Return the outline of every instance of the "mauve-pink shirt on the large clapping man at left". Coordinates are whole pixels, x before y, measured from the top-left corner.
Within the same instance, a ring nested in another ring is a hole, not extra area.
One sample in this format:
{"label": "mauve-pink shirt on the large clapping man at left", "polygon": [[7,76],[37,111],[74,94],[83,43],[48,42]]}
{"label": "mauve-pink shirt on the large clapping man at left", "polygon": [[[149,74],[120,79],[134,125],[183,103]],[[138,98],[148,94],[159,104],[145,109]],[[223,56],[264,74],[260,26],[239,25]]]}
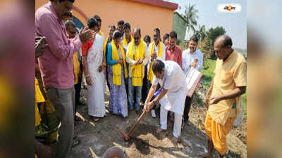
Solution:
{"label": "mauve-pink shirt on the large clapping man at left", "polygon": [[46,37],[49,47],[39,57],[39,67],[46,88],[71,88],[75,84],[73,54],[82,46],[75,37],[68,39],[63,20],[56,15],[51,2],[35,13],[35,33]]}

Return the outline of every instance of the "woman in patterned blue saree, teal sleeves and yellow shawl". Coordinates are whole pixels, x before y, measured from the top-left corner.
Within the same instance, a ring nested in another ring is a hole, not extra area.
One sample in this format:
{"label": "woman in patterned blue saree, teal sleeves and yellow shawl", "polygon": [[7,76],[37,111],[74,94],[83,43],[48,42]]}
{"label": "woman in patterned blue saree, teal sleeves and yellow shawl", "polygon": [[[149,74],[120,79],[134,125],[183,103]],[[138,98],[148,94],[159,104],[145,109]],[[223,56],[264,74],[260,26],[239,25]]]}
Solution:
{"label": "woman in patterned blue saree, teal sleeves and yellow shawl", "polygon": [[112,114],[120,114],[123,117],[127,117],[128,97],[125,89],[125,79],[128,78],[128,69],[125,62],[125,51],[121,44],[121,37],[121,32],[116,30],[113,40],[108,46],[109,111]]}

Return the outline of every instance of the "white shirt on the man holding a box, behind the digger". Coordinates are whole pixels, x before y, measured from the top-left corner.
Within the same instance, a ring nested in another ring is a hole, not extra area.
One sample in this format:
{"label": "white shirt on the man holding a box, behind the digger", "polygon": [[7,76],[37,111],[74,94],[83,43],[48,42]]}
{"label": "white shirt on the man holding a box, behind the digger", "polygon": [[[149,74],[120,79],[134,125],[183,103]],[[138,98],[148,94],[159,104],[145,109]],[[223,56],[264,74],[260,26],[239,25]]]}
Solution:
{"label": "white shirt on the man holding a box, behind the digger", "polygon": [[190,49],[186,49],[182,53],[182,70],[184,74],[187,74],[190,70],[190,64],[194,61],[194,59],[197,58],[197,70],[202,70],[203,66],[203,54],[199,49],[196,49],[196,51],[192,54],[190,53]]}

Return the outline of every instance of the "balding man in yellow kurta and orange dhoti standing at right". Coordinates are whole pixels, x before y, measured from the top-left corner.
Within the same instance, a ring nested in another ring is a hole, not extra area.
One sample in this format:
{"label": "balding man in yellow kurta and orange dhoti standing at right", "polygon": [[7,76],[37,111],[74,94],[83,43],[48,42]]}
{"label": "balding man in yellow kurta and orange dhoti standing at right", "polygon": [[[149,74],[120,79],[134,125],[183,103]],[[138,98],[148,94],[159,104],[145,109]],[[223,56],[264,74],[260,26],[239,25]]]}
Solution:
{"label": "balding man in yellow kurta and orange dhoti standing at right", "polygon": [[226,136],[240,112],[242,95],[247,86],[247,62],[243,55],[233,50],[231,37],[218,37],[214,42],[214,51],[218,59],[206,96],[209,110],[204,123],[208,152],[199,153],[209,158],[213,157],[214,148],[219,152],[219,157],[226,154]]}

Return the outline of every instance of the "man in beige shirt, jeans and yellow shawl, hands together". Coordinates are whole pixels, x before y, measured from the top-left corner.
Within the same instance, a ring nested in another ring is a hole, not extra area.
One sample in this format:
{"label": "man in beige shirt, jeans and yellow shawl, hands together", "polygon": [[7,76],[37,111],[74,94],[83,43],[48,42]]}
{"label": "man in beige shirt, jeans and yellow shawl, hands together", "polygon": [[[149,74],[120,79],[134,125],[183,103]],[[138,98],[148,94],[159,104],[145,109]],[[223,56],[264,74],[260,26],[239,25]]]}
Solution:
{"label": "man in beige shirt, jeans and yellow shawl, hands together", "polygon": [[[140,113],[140,100],[142,93],[142,81],[145,74],[145,65],[149,60],[147,44],[141,39],[141,29],[133,30],[134,41],[130,41],[126,51],[126,62],[128,62],[128,102],[129,109],[133,110],[135,100],[135,110]],[[135,93],[135,96],[133,94]]]}

